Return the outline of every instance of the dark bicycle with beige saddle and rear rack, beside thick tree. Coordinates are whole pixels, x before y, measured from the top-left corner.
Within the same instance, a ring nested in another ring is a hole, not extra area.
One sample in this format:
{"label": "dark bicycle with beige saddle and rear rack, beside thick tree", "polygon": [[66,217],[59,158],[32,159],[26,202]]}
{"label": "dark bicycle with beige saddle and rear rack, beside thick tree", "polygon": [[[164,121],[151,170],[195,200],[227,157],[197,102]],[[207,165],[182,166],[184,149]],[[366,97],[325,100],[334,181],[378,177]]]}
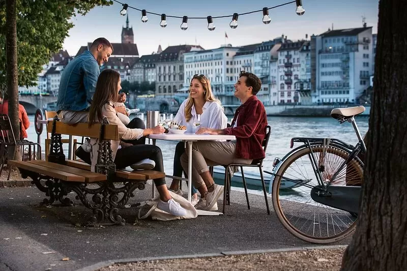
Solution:
{"label": "dark bicycle with beige saddle and rear rack, beside thick tree", "polygon": [[[291,139],[301,142],[273,163],[273,207],[283,226],[298,238],[328,244],[350,235],[356,226],[366,146],[354,116],[363,106],[335,108],[331,116],[352,123],[358,137],[353,146],[335,138]],[[265,171],[266,172],[266,171]]]}

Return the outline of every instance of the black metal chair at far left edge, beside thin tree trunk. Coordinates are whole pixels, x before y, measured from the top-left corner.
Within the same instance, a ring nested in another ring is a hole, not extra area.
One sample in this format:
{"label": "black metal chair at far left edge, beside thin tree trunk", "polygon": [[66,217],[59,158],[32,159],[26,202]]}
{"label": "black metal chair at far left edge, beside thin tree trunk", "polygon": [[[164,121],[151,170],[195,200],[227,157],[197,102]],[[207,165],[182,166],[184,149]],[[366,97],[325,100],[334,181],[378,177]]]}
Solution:
{"label": "black metal chair at far left edge, beside thin tree trunk", "polygon": [[[3,165],[6,162],[8,152],[14,151],[13,154],[13,159],[15,158],[15,148],[20,147],[20,154],[21,154],[21,160],[33,160],[36,159],[36,146],[38,147],[39,154],[40,154],[40,160],[41,160],[41,146],[38,143],[24,140],[24,139],[19,139],[16,140],[14,137],[13,133],[13,128],[11,127],[11,122],[10,118],[6,114],[0,114],[0,176],[2,175],[3,171]],[[24,159],[24,152],[25,152],[25,146],[28,147],[27,151],[27,159]],[[11,168],[12,166],[9,166],[9,175],[7,176],[7,180],[10,179],[10,173],[11,173]]]}

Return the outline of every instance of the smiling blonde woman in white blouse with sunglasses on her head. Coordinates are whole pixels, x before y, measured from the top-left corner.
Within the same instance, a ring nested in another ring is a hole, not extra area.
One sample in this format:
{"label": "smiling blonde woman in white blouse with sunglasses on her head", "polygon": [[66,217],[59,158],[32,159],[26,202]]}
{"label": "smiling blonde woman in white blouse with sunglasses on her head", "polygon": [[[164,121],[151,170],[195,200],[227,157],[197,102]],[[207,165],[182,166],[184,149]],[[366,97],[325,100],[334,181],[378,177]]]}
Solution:
{"label": "smiling blonde woman in white blouse with sunglasses on her head", "polygon": [[[224,129],[227,126],[227,117],[223,113],[223,107],[212,93],[211,82],[203,74],[195,74],[192,77],[189,85],[189,97],[181,104],[174,122],[186,126],[188,132],[194,132],[193,122],[198,115],[200,115],[200,127]],[[182,177],[183,168],[180,157],[184,153],[184,142],[179,142],[175,150],[173,176]],[[187,177],[186,172],[184,175]],[[172,179],[169,189],[182,195],[178,179]],[[195,205],[198,202],[198,196],[194,187],[192,187],[192,195],[192,204]]]}

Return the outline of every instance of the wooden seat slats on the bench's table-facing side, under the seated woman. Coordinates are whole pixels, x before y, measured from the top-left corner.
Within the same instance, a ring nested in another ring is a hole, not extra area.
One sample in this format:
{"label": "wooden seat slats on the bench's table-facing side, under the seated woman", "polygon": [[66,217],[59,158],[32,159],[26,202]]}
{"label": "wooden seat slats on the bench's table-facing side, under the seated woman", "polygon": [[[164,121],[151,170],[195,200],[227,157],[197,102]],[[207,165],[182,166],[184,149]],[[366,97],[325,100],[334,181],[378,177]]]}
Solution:
{"label": "wooden seat slats on the bench's table-facing side, under the seated woman", "polygon": [[[68,160],[67,165],[85,170],[91,170],[91,165],[77,160]],[[155,170],[116,170],[116,176],[126,179],[148,180],[163,178],[165,177],[165,173]]]}

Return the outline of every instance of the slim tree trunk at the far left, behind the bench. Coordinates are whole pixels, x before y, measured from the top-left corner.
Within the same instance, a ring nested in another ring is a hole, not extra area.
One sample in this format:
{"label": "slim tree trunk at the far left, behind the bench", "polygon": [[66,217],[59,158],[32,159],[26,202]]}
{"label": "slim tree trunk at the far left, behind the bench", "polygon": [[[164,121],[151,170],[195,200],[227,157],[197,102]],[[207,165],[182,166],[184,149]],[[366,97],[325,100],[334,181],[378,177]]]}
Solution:
{"label": "slim tree trunk at the far left, behind the bench", "polygon": [[[18,118],[18,70],[17,70],[17,23],[16,1],[6,0],[6,52],[7,52],[7,94],[9,118],[16,140],[20,138]],[[9,152],[10,154],[11,152]]]}

